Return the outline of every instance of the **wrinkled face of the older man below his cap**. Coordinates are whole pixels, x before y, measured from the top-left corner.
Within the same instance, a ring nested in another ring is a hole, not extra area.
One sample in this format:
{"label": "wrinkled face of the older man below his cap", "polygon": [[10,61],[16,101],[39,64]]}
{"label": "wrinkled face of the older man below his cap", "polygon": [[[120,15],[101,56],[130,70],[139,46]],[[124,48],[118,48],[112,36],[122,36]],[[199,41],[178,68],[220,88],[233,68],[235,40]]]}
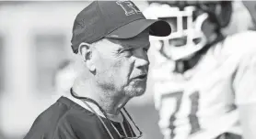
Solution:
{"label": "wrinkled face of the older man below his cap", "polygon": [[111,93],[122,92],[130,97],[142,95],[146,87],[149,46],[148,30],[130,39],[103,39],[99,42],[92,52],[96,56],[98,85]]}

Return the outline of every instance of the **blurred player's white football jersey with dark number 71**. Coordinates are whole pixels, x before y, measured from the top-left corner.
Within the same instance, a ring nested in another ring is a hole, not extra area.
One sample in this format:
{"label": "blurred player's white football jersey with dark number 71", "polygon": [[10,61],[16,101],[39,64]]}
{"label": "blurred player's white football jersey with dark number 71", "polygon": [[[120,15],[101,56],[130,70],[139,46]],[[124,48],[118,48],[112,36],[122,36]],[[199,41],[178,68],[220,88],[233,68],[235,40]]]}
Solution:
{"label": "blurred player's white football jersey with dark number 71", "polygon": [[256,32],[227,37],[182,75],[172,72],[174,63],[157,49],[151,52],[158,124],[165,139],[241,134],[237,106],[256,102]]}

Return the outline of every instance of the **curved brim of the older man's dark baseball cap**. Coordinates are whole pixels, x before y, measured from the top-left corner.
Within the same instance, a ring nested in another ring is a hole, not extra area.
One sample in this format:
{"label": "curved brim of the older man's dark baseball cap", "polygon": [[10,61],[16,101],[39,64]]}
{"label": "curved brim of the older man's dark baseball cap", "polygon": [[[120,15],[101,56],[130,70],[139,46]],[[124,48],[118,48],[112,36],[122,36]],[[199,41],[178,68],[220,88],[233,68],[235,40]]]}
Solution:
{"label": "curved brim of the older man's dark baseball cap", "polygon": [[106,37],[131,38],[135,37],[149,27],[149,35],[156,37],[167,37],[171,32],[169,23],[163,20],[139,19],[111,32]]}

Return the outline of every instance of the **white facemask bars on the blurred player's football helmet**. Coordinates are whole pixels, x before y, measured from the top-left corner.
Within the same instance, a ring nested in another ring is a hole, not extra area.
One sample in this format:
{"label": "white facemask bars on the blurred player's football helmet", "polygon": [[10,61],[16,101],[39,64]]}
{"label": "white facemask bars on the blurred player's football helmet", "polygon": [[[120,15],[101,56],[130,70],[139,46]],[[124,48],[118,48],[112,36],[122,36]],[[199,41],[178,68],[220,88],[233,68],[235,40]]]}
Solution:
{"label": "white facemask bars on the blurred player's football helmet", "polygon": [[168,59],[190,59],[207,44],[202,27],[208,14],[196,13],[195,6],[186,6],[183,10],[169,5],[161,6],[169,12],[167,14],[165,11],[166,14],[159,14],[157,18],[169,22],[172,32],[168,37],[150,37],[151,40],[157,40],[155,45]]}

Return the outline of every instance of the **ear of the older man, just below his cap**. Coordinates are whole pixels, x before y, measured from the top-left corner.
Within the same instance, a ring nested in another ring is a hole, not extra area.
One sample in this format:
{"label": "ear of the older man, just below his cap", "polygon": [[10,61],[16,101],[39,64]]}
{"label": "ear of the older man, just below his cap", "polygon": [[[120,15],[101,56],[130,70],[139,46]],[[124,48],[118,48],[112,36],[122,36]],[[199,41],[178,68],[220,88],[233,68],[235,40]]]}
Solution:
{"label": "ear of the older man, just below his cap", "polygon": [[91,72],[95,72],[96,68],[92,61],[92,51],[91,46],[87,43],[82,42],[79,45],[78,53],[81,55],[82,59],[85,61],[87,65],[87,69],[89,69]]}

